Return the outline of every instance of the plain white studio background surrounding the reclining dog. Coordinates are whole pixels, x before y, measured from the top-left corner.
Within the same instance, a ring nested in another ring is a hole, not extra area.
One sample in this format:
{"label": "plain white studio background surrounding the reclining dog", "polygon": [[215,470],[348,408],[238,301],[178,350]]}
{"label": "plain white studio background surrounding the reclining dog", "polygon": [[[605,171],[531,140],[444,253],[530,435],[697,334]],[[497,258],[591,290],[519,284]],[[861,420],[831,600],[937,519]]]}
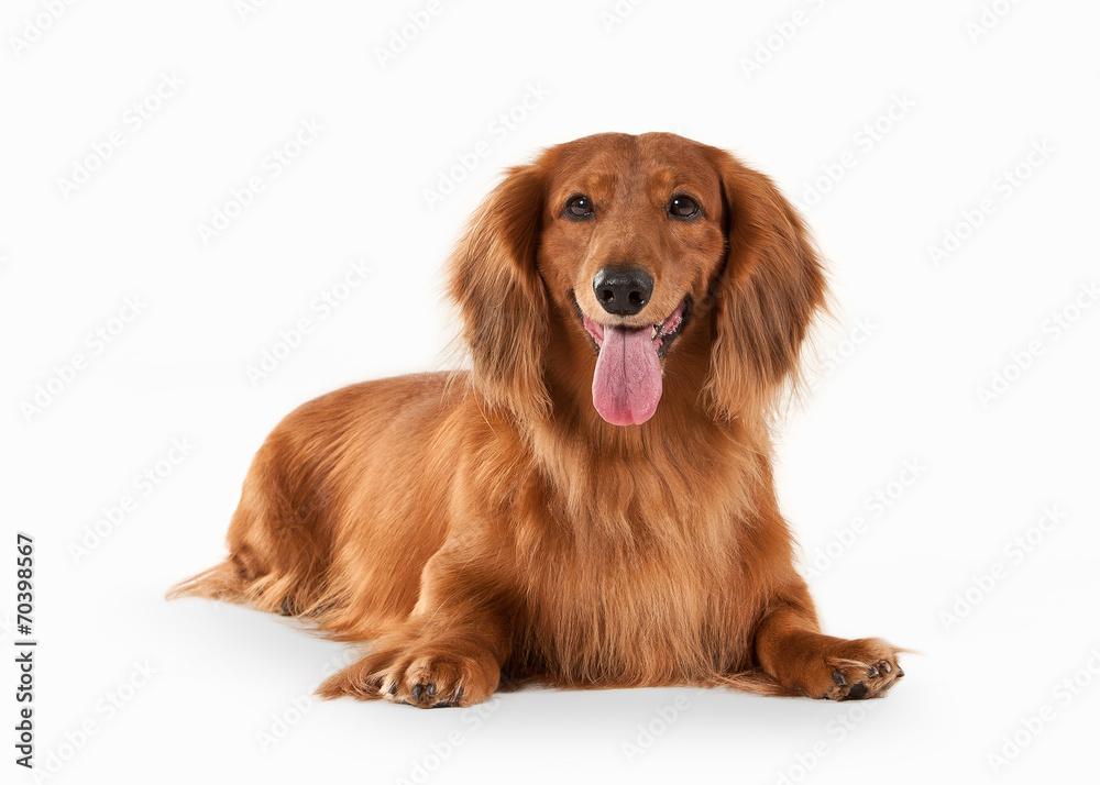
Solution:
{"label": "plain white studio background surrounding the reclining dog", "polygon": [[[1081,287],[1100,278],[1100,8],[243,5],[0,14],[6,781],[31,781],[12,763],[15,531],[36,543],[37,762],[55,782],[1094,777],[1100,307]],[[430,22],[402,42],[409,14]],[[163,75],[183,84],[155,98]],[[310,121],[317,137],[265,166]],[[815,229],[839,317],[780,435],[780,495],[826,629],[923,650],[905,681],[844,705],[693,689],[525,690],[482,714],[317,703],[299,696],[346,648],[166,604],[222,557],[283,414],[451,362],[440,266],[501,169],[609,130],[729,148]],[[97,153],[112,132],[122,144]],[[228,206],[254,176],[263,191]],[[235,220],[205,243],[219,208]],[[961,241],[936,264],[945,233]],[[354,259],[372,272],[322,316]],[[127,298],[140,312],[112,321]],[[278,349],[302,318],[311,332]],[[284,358],[253,384],[265,351]]]}

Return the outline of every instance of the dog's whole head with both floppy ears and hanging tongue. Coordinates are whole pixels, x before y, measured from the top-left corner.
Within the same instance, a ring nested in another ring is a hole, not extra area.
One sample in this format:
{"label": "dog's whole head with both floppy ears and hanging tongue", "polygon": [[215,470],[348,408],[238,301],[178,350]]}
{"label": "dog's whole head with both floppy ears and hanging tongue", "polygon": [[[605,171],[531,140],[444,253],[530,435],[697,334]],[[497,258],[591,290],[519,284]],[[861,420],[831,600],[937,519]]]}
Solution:
{"label": "dog's whole head with both floppy ears and hanging tongue", "polygon": [[474,384],[521,418],[582,378],[616,425],[653,417],[666,382],[715,419],[761,411],[825,299],[771,180],[666,133],[587,136],[510,169],[451,265]]}

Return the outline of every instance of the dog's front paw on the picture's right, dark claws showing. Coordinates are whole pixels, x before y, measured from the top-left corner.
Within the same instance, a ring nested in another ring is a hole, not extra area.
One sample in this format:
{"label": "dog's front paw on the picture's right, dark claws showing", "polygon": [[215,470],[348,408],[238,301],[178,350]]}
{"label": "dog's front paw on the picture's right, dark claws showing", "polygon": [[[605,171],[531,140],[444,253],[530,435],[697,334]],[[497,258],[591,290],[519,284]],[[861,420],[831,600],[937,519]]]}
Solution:
{"label": "dog's front paw on the picture's right, dark claws showing", "polygon": [[792,643],[789,660],[776,676],[813,698],[881,698],[905,675],[898,664],[903,650],[878,638],[804,634]]}

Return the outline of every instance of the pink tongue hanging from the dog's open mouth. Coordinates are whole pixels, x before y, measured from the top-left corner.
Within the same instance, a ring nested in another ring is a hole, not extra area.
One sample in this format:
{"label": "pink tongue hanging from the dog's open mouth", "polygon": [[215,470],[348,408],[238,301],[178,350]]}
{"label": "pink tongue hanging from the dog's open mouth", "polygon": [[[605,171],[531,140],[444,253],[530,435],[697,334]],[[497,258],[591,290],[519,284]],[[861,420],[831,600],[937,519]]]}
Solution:
{"label": "pink tongue hanging from the dog's open mouth", "polygon": [[613,425],[640,425],[661,400],[661,361],[652,328],[604,325],[592,378],[592,403]]}

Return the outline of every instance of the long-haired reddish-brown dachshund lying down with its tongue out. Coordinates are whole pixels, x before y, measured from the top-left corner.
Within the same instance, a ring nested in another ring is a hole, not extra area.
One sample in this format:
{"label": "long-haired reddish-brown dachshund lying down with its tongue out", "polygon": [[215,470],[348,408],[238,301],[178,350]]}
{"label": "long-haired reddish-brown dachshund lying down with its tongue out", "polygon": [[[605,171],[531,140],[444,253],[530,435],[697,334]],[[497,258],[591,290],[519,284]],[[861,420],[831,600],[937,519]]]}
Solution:
{"label": "long-haired reddish-brown dachshund lying down with its tongue out", "polygon": [[508,172],[450,262],[465,372],[300,407],[229,557],[173,596],[370,643],[320,695],[468,706],[502,678],[871,698],[897,649],[818,627],[770,413],[826,298],[770,179],[672,134]]}

